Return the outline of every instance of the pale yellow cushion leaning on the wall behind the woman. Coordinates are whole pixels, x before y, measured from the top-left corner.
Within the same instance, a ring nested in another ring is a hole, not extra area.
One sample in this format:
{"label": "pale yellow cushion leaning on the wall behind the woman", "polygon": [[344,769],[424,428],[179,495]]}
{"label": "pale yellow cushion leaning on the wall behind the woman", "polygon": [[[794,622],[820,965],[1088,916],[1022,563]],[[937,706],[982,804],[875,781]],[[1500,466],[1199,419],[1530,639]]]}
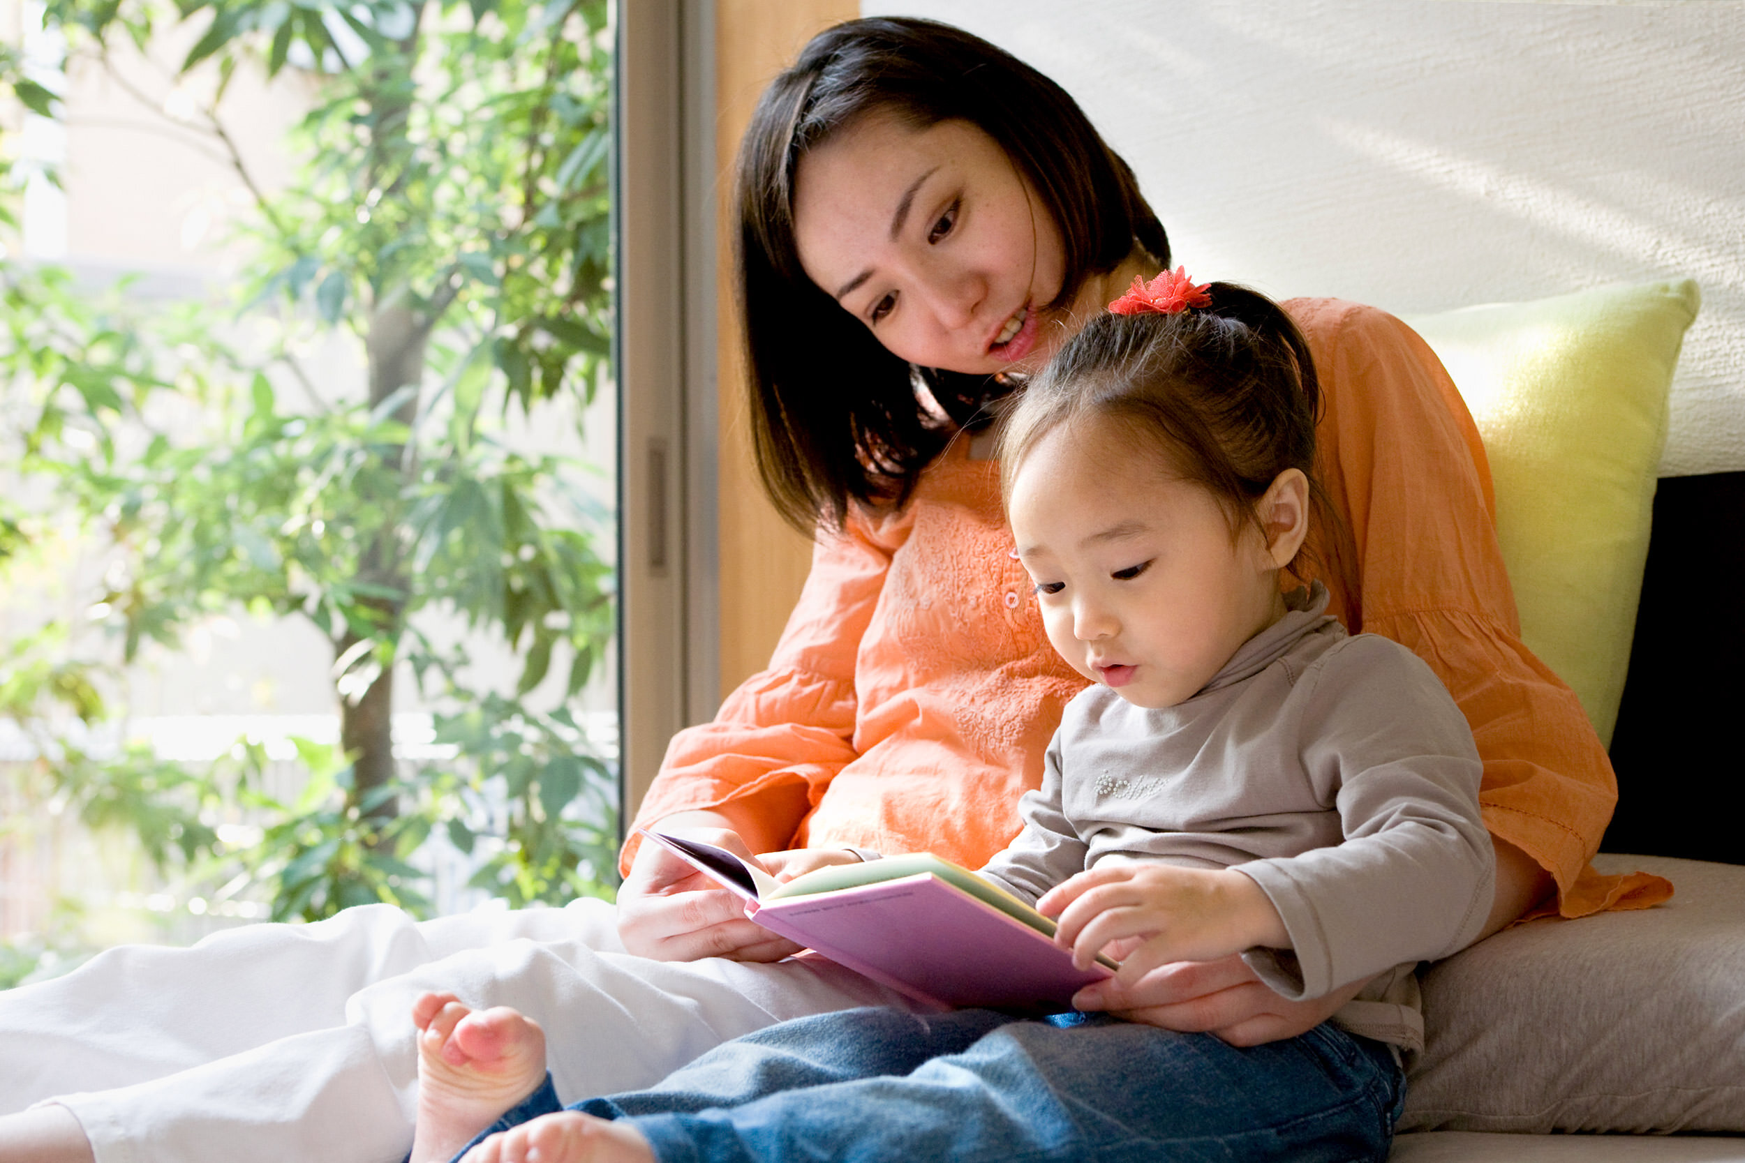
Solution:
{"label": "pale yellow cushion leaning on the wall behind the woman", "polygon": [[1689,279],[1408,317],[1490,457],[1522,638],[1611,743],[1630,664]]}

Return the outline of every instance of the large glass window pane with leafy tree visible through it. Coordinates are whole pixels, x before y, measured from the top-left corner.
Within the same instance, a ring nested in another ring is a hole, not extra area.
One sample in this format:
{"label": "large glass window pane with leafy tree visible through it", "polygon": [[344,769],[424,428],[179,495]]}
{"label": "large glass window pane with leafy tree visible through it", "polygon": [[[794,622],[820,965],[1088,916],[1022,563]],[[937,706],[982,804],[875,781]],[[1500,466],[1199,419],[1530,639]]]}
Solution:
{"label": "large glass window pane with leafy tree visible through it", "polygon": [[180,9],[0,56],[0,987],[616,879],[612,7]]}

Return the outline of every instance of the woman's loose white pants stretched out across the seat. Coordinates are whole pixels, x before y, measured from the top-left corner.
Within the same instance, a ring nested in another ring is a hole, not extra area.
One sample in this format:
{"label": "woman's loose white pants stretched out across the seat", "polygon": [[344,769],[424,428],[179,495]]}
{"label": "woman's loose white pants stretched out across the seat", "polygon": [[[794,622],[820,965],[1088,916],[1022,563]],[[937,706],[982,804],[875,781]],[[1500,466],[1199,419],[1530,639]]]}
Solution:
{"label": "woman's loose white pants stretched out across the seat", "polygon": [[653,1085],[773,1022],[904,1004],[825,961],[632,957],[595,900],[422,924],[368,905],[192,949],[112,949],[0,992],[0,1114],[54,1098],[98,1163],[400,1163],[412,1001],[429,989],[536,1018],[564,1102]]}

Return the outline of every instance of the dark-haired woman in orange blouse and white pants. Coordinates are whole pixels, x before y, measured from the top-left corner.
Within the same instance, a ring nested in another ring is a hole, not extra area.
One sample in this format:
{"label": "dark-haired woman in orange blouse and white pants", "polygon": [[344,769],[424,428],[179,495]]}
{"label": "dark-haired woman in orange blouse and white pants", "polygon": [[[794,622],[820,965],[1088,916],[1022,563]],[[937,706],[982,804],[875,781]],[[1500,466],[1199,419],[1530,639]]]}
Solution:
{"label": "dark-haired woman in orange blouse and white pants", "polygon": [[[747,134],[740,214],[759,464],[784,511],[822,534],[771,670],[675,738],[640,820],[803,849],[771,868],[846,860],[845,846],[981,863],[1017,830],[1017,795],[1080,680],[1017,600],[977,425],[1077,321],[1167,263],[1167,239],[1063,91],[921,21],[853,21],[806,47]],[[1565,915],[1661,893],[1584,868],[1611,771],[1574,696],[1515,635],[1483,452],[1454,387],[1398,321],[1291,310],[1328,392],[1323,474],[1351,534],[1321,546],[1333,609],[1424,656],[1485,758],[1487,931],[1553,891]],[[958,820],[974,823],[944,826]],[[0,994],[5,1109],[63,1097],[0,1118],[0,1163],[398,1160],[408,1015],[428,989],[565,1029],[564,1098],[649,1085],[782,1018],[895,1001],[777,961],[792,947],[653,847],[625,860],[616,935],[595,903],[424,926],[377,907],[188,952],[115,950]],[[1283,1003],[1225,959],[1080,1004],[1248,1044],[1317,1025],[1359,987]]]}

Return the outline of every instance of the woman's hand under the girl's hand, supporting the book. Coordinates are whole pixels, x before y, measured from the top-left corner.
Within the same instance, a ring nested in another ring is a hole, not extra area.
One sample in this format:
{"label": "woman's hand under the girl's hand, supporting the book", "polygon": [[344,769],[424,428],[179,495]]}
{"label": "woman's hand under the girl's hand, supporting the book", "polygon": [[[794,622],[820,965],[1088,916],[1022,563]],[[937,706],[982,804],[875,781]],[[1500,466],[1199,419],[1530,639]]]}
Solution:
{"label": "woman's hand under the girl's hand, supporting the book", "polygon": [[1108,978],[1073,996],[1075,1010],[1105,1010],[1129,1022],[1183,1034],[1213,1034],[1232,1046],[1297,1037],[1326,1022],[1368,980],[1309,1001],[1286,1001],[1255,976],[1241,956],[1178,961],[1136,982]]}

